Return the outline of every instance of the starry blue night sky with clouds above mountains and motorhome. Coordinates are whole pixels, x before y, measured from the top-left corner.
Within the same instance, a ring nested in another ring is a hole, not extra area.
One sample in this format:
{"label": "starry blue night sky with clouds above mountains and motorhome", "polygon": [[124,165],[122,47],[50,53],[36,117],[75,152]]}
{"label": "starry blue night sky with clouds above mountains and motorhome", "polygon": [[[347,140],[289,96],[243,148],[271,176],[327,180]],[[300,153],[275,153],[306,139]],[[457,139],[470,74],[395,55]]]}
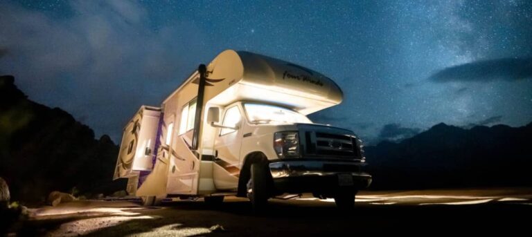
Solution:
{"label": "starry blue night sky with clouds above mountains and motorhome", "polygon": [[115,142],[227,48],[332,78],[370,142],[532,121],[532,1],[0,1],[0,74]]}

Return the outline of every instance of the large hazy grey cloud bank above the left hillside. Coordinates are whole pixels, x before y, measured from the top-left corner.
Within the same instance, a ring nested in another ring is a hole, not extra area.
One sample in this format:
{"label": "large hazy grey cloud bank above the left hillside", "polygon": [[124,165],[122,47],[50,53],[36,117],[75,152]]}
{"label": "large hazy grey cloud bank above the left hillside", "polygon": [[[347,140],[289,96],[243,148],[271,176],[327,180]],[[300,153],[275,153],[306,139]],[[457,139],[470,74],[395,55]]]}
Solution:
{"label": "large hazy grey cloud bank above the left hillside", "polygon": [[[54,17],[0,3],[0,72],[30,99],[63,108],[115,142],[141,104],[157,106],[206,55],[186,21],[154,29],[133,1],[70,1]],[[210,55],[211,56],[211,55]]]}

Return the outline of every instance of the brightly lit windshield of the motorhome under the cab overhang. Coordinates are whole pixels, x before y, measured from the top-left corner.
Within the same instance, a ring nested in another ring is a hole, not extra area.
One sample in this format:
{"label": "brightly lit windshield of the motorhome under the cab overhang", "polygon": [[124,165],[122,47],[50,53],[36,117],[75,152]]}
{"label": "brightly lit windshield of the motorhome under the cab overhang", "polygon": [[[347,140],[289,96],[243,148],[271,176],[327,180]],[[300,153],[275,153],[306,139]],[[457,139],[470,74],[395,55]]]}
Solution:
{"label": "brightly lit windshield of the motorhome under the cab overhang", "polygon": [[310,121],[308,117],[288,108],[269,104],[251,103],[245,103],[244,108],[249,122],[255,124],[312,124],[312,121]]}

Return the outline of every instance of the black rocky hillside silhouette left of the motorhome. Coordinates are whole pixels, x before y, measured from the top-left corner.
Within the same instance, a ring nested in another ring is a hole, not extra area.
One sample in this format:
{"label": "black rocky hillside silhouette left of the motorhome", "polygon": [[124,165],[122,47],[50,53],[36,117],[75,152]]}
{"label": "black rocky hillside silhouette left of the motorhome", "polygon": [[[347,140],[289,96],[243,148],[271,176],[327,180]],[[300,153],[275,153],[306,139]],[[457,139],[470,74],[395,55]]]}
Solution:
{"label": "black rocky hillside silhouette left of the motorhome", "polygon": [[28,99],[12,76],[0,77],[0,176],[12,200],[36,202],[50,191],[109,193],[118,146],[60,108]]}

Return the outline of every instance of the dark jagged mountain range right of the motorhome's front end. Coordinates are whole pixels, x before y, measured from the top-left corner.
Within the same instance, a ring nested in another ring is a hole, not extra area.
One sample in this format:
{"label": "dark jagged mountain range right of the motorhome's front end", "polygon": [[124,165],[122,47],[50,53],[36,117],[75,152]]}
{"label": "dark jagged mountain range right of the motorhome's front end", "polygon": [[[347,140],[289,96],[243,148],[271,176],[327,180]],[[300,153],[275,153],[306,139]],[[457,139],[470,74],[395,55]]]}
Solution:
{"label": "dark jagged mountain range right of the motorhome's front end", "polygon": [[532,123],[471,129],[441,123],[365,151],[373,189],[532,185]]}

